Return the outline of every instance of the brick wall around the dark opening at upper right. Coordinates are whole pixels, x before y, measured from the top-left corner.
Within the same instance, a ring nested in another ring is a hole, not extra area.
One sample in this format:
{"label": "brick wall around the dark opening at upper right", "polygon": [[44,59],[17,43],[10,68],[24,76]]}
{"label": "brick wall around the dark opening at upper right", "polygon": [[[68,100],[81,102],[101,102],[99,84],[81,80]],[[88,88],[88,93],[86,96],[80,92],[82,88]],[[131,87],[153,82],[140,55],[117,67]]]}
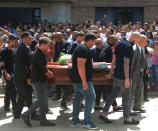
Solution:
{"label": "brick wall around the dark opening at upper right", "polygon": [[74,0],[71,22],[94,20],[95,7],[144,7],[144,22],[158,21],[158,0]]}

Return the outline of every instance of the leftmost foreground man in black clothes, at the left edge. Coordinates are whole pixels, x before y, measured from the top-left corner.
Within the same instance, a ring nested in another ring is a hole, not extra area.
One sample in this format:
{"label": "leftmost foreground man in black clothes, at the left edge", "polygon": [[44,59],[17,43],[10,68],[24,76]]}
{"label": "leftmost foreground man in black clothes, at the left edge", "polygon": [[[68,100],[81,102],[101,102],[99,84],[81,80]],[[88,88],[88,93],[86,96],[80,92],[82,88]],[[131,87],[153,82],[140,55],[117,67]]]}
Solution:
{"label": "leftmost foreground man in black clothes, at the left edge", "polygon": [[9,43],[6,48],[4,48],[0,53],[0,63],[1,68],[3,70],[4,78],[6,80],[5,87],[5,98],[4,98],[4,111],[10,111],[10,100],[12,102],[13,112],[16,107],[16,88],[14,82],[14,62],[15,62],[15,54],[13,52],[13,48],[18,45],[18,37],[15,35],[9,36]]}

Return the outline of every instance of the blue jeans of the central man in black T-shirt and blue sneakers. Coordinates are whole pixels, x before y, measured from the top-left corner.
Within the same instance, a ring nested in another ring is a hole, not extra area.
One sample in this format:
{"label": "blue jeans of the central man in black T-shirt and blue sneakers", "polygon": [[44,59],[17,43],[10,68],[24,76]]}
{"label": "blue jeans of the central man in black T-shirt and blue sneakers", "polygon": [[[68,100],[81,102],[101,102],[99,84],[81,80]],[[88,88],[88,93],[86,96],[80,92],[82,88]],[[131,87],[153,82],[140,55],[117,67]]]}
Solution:
{"label": "blue jeans of the central man in black T-shirt and blue sneakers", "polygon": [[92,82],[87,81],[87,84],[88,84],[88,89],[84,91],[82,83],[73,83],[75,96],[73,101],[72,121],[79,120],[78,117],[80,112],[81,101],[83,97],[85,97],[86,103],[85,103],[85,113],[84,113],[84,121],[83,121],[84,124],[91,121],[91,111],[96,98]]}

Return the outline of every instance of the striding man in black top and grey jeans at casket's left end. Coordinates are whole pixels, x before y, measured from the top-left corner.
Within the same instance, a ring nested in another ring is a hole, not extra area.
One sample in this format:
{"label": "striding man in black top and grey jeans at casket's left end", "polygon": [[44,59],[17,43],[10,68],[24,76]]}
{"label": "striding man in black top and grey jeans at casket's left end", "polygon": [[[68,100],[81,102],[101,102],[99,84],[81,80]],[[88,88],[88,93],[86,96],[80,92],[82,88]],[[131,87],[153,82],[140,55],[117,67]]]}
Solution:
{"label": "striding man in black top and grey jeans at casket's left end", "polygon": [[37,101],[22,115],[24,123],[31,127],[30,115],[40,108],[40,125],[41,126],[54,126],[46,119],[46,107],[48,102],[48,81],[47,78],[54,77],[53,73],[47,69],[47,60],[44,52],[48,52],[50,48],[50,40],[47,37],[39,39],[39,48],[35,51],[32,57],[32,76],[31,83],[36,92]]}

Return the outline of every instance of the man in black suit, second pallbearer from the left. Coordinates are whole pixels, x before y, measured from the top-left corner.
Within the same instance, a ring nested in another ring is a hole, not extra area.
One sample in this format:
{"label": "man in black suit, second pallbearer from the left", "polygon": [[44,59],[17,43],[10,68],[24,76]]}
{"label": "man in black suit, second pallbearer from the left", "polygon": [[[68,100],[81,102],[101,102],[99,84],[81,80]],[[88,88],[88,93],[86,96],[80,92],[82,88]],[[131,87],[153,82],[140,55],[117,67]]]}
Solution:
{"label": "man in black suit, second pallbearer from the left", "polygon": [[[18,102],[14,112],[14,118],[19,119],[24,105],[29,108],[32,105],[31,74],[31,49],[32,36],[25,32],[21,36],[22,43],[18,47],[15,56],[15,83],[18,92]],[[32,115],[36,119],[37,115]],[[37,118],[38,119],[38,118]]]}

